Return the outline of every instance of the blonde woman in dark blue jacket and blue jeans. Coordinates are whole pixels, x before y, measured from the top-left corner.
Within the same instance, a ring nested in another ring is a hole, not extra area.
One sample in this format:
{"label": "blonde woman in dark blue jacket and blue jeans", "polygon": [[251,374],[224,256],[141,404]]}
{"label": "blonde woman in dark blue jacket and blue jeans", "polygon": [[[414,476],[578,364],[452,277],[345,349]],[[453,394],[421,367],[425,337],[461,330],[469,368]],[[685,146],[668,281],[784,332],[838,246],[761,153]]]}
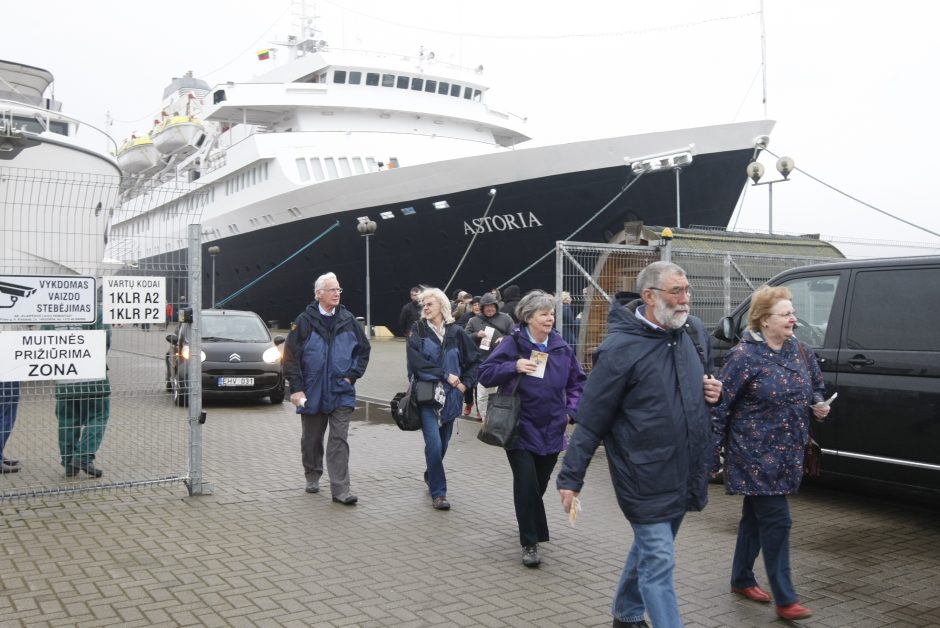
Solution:
{"label": "blonde woman in dark blue jacket and blue jeans", "polygon": [[476,385],[480,354],[470,336],[454,325],[450,301],[441,290],[427,288],[419,299],[421,318],[408,336],[408,378],[440,382],[444,389],[443,406],[421,406],[421,432],[427,462],[424,481],[431,490],[431,505],[448,510],[444,454],[454,420],[463,408],[463,395]]}

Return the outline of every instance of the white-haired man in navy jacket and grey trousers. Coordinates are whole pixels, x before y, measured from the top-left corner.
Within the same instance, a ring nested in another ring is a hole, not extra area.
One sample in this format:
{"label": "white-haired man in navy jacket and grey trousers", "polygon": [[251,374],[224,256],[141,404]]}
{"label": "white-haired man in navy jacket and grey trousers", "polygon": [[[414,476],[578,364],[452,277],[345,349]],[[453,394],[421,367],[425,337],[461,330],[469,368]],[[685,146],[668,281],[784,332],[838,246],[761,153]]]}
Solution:
{"label": "white-haired man in navy jacket and grey trousers", "polygon": [[315,300],[291,325],[284,343],[284,376],[301,419],[300,453],[306,491],[320,492],[323,437],[333,501],[352,506],[349,490],[349,416],[356,406],[356,380],[366,372],[372,347],[356,318],[339,299],[343,289],[333,273],[314,283]]}

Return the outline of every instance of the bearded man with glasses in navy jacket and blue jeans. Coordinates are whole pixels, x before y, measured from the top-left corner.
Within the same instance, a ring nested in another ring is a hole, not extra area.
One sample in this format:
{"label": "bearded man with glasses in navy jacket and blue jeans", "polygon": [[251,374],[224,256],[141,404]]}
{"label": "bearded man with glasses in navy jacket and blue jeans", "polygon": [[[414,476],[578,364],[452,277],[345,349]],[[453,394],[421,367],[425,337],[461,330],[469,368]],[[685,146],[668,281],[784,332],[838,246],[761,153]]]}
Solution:
{"label": "bearded man with glasses in navy jacket and blue jeans", "polygon": [[710,345],[689,315],[685,271],[654,262],[637,277],[637,290],[639,299],[611,306],[557,486],[570,512],[604,441],[617,502],[633,528],[613,625],[647,626],[648,614],[657,628],[675,627],[682,619],[674,540],[685,513],[708,502],[708,406],[721,400],[721,382],[707,375]]}

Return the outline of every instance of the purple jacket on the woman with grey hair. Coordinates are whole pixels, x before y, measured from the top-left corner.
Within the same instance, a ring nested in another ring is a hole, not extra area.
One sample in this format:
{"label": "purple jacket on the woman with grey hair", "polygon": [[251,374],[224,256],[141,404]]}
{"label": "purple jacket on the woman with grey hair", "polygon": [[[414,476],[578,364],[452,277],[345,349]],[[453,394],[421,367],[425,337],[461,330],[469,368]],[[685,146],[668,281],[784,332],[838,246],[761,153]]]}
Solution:
{"label": "purple jacket on the woman with grey hair", "polygon": [[[542,456],[568,446],[568,415],[575,415],[586,379],[574,350],[561,334],[553,329],[547,345],[548,363],[541,379],[516,373],[516,360],[538,350],[522,326],[514,327],[480,365],[481,384],[519,392],[519,442],[515,449]],[[514,383],[517,379],[518,384]]]}

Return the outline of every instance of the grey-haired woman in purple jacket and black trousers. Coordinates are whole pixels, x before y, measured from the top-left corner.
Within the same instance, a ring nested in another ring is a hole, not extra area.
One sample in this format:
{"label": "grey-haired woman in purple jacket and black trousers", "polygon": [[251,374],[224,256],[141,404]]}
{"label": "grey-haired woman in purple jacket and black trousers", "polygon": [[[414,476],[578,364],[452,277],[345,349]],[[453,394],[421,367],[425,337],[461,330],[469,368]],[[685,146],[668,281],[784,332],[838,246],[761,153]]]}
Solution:
{"label": "grey-haired woman in purple jacket and black trousers", "polygon": [[548,541],[542,497],[559,452],[568,446],[565,428],[578,408],[585,375],[574,350],[554,329],[551,295],[541,290],[525,295],[516,317],[519,325],[480,365],[480,383],[519,393],[519,440],[506,450],[506,457],[512,468],[522,564],[537,567],[539,543]]}

